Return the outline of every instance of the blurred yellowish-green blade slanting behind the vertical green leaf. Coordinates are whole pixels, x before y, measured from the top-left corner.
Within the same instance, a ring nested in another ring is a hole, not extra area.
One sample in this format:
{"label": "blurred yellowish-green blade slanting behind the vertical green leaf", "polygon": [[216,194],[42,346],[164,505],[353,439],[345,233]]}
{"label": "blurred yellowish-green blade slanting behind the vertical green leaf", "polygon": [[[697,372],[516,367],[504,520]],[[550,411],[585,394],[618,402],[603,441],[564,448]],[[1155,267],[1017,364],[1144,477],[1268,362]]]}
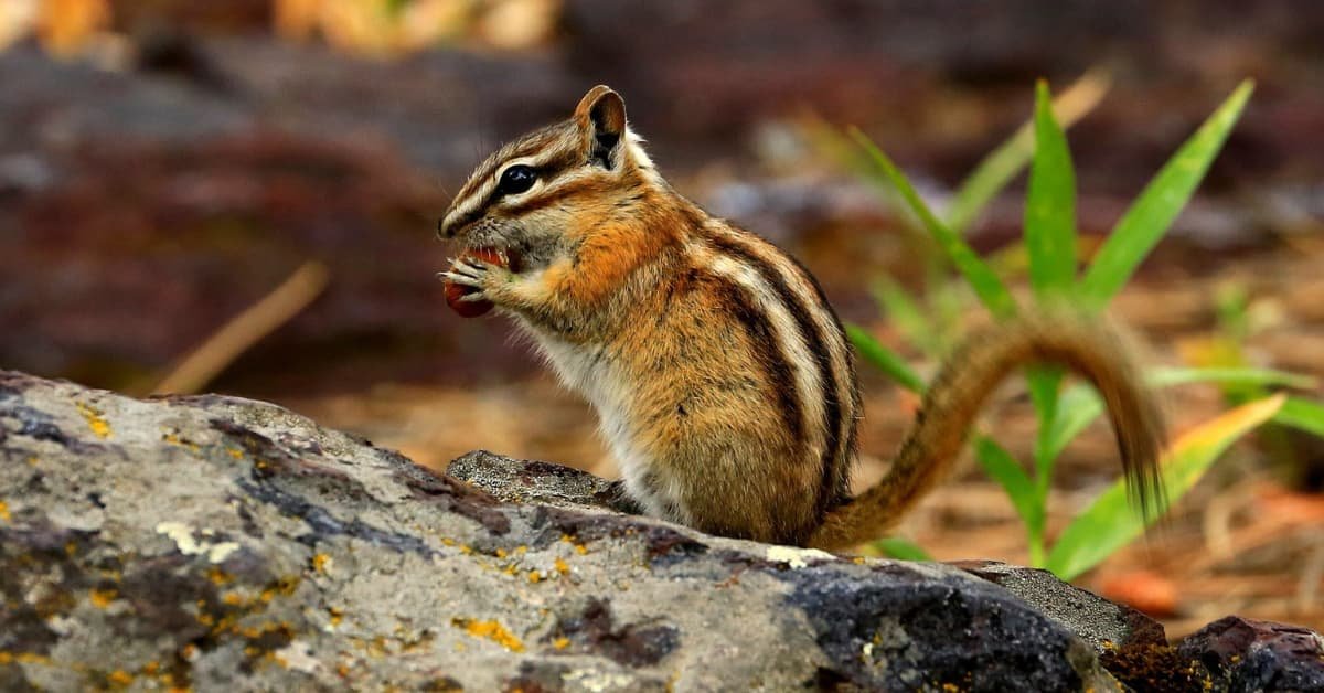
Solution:
{"label": "blurred yellowish-green blade slanting behind the vertical green leaf", "polygon": [[[1053,99],[1053,114],[1063,127],[1076,121],[1103,101],[1112,80],[1103,70],[1090,70]],[[997,197],[1030,162],[1034,154],[1034,127],[1025,123],[1001,146],[989,152],[961,183],[947,211],[947,225],[961,233],[980,216],[989,200]]]}

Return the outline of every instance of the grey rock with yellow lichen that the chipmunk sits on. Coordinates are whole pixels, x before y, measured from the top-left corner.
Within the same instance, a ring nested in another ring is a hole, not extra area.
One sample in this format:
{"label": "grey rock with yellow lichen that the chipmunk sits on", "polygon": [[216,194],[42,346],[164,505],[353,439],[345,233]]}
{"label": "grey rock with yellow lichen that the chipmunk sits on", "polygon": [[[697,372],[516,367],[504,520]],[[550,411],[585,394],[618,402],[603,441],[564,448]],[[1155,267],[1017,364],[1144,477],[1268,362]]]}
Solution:
{"label": "grey rock with yellow lichen that the chipmunk sits on", "polygon": [[544,462],[454,472],[260,401],[0,371],[0,688],[1115,690],[1100,653],[1156,641],[1037,571],[706,537]]}

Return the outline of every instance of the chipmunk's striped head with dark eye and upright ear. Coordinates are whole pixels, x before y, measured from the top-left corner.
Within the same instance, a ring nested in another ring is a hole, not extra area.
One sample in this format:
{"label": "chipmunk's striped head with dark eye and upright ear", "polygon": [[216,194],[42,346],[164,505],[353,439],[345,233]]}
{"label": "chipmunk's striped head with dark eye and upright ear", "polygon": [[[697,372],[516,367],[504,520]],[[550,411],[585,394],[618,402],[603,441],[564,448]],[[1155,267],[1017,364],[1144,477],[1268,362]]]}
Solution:
{"label": "chipmunk's striped head with dark eye and upright ear", "polygon": [[520,270],[545,266],[572,220],[609,219],[618,201],[638,201],[658,180],[639,138],[625,122],[625,101],[606,86],[584,94],[575,114],[498,150],[469,176],[437,231],[466,248],[519,258]]}

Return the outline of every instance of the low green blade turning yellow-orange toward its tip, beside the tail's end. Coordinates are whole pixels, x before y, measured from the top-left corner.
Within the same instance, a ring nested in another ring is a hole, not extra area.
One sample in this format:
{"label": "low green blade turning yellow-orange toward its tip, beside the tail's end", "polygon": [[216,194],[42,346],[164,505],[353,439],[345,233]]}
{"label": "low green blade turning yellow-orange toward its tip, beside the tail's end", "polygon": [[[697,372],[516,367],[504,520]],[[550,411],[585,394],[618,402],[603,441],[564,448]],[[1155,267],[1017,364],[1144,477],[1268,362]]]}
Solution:
{"label": "low green blade turning yellow-orange toward its tip, beside the tail's end", "polygon": [[1286,399],[1274,395],[1245,404],[1174,441],[1164,454],[1160,469],[1165,494],[1156,500],[1156,513],[1149,519],[1128,502],[1127,486],[1119,478],[1067,525],[1053,545],[1046,567],[1070,580],[1140,537],[1170,502],[1196,485],[1229,445],[1272,419]]}

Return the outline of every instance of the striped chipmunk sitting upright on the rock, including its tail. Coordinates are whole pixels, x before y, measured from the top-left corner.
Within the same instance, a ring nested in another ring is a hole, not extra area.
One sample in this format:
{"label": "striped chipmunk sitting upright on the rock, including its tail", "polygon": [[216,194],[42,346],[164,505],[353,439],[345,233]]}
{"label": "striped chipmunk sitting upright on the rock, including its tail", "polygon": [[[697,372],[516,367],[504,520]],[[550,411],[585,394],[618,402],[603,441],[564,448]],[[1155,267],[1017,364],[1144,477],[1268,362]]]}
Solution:
{"label": "striped chipmunk sitting upright on the rock, including its tail", "polygon": [[851,498],[859,386],[822,289],[677,193],[606,86],[483,162],[438,232],[467,249],[445,280],[512,317],[592,403],[649,515],[828,550],[879,538],[952,469],[996,386],[1031,363],[1091,382],[1132,489],[1143,504],[1158,490],[1162,419],[1113,333],[1025,315],[947,359],[891,470]]}

